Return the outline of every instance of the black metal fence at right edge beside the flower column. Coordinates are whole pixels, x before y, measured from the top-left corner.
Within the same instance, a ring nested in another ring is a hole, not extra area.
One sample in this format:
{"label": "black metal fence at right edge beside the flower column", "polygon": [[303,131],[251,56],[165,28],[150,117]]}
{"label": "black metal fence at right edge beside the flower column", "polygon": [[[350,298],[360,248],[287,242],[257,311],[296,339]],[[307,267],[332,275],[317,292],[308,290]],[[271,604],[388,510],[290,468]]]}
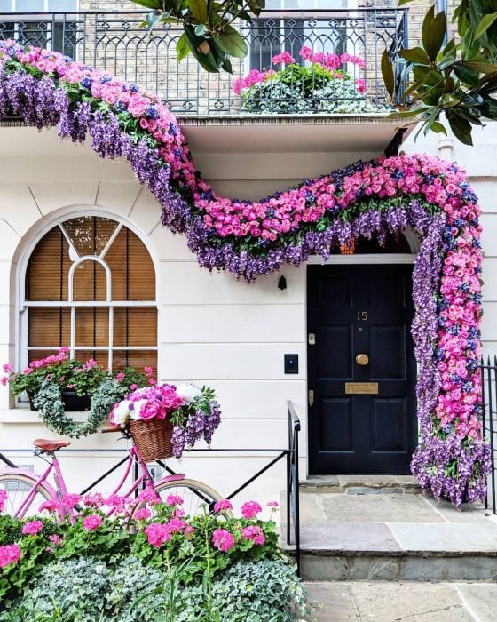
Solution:
{"label": "black metal fence at right edge beside the flower column", "polygon": [[490,443],[492,472],[488,481],[485,507],[497,514],[497,356],[481,360],[483,387],[483,426]]}

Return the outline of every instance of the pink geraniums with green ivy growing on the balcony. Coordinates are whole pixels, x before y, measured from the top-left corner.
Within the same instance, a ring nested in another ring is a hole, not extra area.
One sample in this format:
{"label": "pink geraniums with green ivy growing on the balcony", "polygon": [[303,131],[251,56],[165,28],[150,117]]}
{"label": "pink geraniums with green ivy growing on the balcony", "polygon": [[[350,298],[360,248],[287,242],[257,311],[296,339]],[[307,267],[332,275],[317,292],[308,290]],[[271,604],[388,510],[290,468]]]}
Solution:
{"label": "pink geraniums with green ivy growing on the balcony", "polygon": [[272,57],[280,67],[258,71],[235,80],[233,91],[241,95],[241,110],[249,113],[354,113],[377,112],[367,102],[366,81],[353,76],[347,68],[365,67],[364,60],[344,52],[312,52],[305,46],[299,52],[309,64],[302,66],[289,52]]}

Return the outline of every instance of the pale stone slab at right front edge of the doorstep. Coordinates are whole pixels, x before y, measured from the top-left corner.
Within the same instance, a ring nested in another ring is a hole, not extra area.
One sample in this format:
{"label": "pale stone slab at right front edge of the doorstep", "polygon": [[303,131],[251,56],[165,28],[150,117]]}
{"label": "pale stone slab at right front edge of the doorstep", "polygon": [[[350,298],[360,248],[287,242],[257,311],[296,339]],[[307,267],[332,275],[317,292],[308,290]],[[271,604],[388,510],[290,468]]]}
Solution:
{"label": "pale stone slab at right front edge of the doorstep", "polygon": [[[485,553],[497,555],[497,525],[443,522],[416,524],[391,522],[390,530],[404,551]],[[496,617],[497,618],[497,617]]]}

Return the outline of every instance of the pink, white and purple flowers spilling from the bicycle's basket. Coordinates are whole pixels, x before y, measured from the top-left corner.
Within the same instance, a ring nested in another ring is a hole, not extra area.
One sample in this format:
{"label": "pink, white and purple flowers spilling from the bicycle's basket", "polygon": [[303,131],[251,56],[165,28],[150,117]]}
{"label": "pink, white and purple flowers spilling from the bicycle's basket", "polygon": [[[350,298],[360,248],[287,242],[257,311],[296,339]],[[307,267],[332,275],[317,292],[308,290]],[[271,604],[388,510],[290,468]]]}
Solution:
{"label": "pink, white and purple flowers spilling from the bicycle's basket", "polygon": [[170,418],[174,424],[173,454],[179,458],[185,446],[192,447],[203,438],[210,444],[221,421],[221,411],[213,389],[193,385],[141,387],[116,403],[109,420],[114,426],[130,421]]}

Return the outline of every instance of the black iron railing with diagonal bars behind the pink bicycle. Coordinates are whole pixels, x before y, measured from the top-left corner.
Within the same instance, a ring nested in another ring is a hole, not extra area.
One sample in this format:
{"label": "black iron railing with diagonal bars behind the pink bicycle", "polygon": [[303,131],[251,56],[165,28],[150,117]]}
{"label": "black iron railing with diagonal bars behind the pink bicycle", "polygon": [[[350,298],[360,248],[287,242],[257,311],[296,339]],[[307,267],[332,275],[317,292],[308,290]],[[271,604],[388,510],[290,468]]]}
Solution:
{"label": "black iron railing with diagonal bars behind the pink bicycle", "polygon": [[[299,475],[298,475],[298,434],[300,432],[300,419],[296,414],[295,407],[293,403],[288,402],[288,447],[284,448],[268,448],[268,449],[259,449],[259,448],[211,448],[209,450],[202,449],[192,449],[189,451],[201,451],[204,455],[209,456],[212,453],[230,453],[232,454],[268,454],[270,458],[269,462],[262,466],[255,474],[251,475],[245,482],[242,482],[233,492],[225,495],[225,498],[233,499],[237,495],[241,493],[242,490],[245,490],[252,482],[255,482],[262,474],[266,473],[272,466],[278,464],[280,460],[286,459],[287,461],[287,474],[286,474],[286,537],[287,537],[287,545],[295,546],[295,558],[296,558],[296,566],[297,573],[300,576],[300,512],[299,512],[299,494],[300,494],[300,485],[299,485]],[[0,448],[0,469],[5,468],[5,466],[9,468],[16,468],[17,465],[12,461],[12,459],[7,458],[5,454],[12,455],[14,453],[29,453],[33,451],[31,449],[1,449]],[[62,453],[89,453],[89,454],[98,454],[98,453],[122,453],[127,452],[127,449],[63,449],[59,450]],[[273,455],[276,454],[276,455]],[[127,457],[119,460],[119,462],[115,463],[111,466],[105,473],[101,474],[94,482],[91,482],[84,490],[81,491],[81,494],[85,494],[89,490],[95,490],[95,487],[99,485],[100,482],[105,480],[109,475],[113,474],[124,462],[126,462]],[[170,466],[166,463],[162,462],[162,460],[158,461],[159,465],[167,471],[169,474],[176,474]],[[135,477],[138,478],[138,463],[135,465],[137,469],[135,472]],[[210,483],[210,482],[209,482]],[[213,486],[216,488],[216,482],[212,482]],[[138,492],[138,490],[137,490]],[[283,520],[283,519],[282,519]]]}

